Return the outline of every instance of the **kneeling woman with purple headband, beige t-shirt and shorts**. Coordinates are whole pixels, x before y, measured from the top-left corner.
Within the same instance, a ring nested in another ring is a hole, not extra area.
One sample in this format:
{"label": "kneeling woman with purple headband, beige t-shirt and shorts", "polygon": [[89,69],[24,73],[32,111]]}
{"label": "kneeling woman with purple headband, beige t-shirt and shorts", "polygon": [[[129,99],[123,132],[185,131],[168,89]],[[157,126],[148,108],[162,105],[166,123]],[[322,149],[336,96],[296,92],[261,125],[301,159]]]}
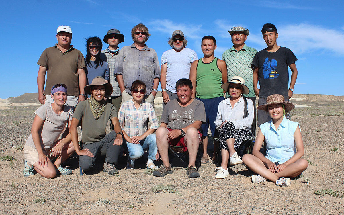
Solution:
{"label": "kneeling woman with purple headband, beige t-shirt and shorts", "polygon": [[[62,175],[72,174],[72,170],[61,166],[75,151],[71,135],[63,135],[58,139],[68,125],[71,126],[73,110],[64,105],[67,100],[67,87],[55,84],[51,88],[51,98],[54,103],[46,103],[35,111],[31,134],[25,142],[23,153],[25,157],[24,176],[33,175],[33,170],[45,178],[54,178],[56,172]],[[51,159],[56,159],[51,161]]]}

